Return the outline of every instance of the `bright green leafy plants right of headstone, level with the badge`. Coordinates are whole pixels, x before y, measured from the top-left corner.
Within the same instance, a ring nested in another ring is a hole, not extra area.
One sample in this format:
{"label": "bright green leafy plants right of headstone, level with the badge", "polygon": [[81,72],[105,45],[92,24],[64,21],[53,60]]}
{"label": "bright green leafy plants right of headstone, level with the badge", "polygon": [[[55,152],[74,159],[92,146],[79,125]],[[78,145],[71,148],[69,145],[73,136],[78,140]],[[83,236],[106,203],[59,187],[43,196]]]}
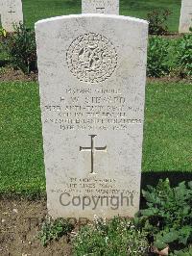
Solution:
{"label": "bright green leafy plants right of headstone, level with the badge", "polygon": [[184,35],[180,39],[149,38],[147,75],[192,76],[192,35]]}

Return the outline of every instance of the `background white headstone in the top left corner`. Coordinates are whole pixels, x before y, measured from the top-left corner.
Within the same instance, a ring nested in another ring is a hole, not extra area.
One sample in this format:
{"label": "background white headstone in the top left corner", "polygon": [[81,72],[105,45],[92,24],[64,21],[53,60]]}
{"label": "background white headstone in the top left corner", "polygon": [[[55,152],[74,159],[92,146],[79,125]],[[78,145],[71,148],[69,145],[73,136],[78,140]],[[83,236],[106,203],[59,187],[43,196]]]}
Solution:
{"label": "background white headstone in the top left corner", "polygon": [[13,24],[23,23],[21,0],[1,0],[1,24],[8,31],[13,32]]}

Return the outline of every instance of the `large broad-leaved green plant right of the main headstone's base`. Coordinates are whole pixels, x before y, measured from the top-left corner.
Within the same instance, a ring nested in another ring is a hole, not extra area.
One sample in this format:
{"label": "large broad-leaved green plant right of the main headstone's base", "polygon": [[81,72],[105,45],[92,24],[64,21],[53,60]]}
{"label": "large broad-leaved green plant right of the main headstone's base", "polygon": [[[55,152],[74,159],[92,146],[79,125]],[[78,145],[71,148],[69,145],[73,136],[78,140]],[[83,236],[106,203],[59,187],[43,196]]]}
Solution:
{"label": "large broad-leaved green plant right of the main headstone's base", "polygon": [[140,223],[158,249],[169,245],[170,250],[181,249],[192,242],[192,182],[181,182],[171,188],[169,180],[143,191],[147,208],[140,211]]}

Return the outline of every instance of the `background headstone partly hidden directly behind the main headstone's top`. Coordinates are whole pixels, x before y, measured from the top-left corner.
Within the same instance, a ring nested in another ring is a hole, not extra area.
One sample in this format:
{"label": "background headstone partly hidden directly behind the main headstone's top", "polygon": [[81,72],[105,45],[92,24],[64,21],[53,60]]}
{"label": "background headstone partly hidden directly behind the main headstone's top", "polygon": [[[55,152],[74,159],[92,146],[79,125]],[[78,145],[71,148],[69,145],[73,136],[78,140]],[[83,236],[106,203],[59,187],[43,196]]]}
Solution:
{"label": "background headstone partly hidden directly behind the main headstone's top", "polygon": [[82,0],[82,13],[119,14],[119,0]]}

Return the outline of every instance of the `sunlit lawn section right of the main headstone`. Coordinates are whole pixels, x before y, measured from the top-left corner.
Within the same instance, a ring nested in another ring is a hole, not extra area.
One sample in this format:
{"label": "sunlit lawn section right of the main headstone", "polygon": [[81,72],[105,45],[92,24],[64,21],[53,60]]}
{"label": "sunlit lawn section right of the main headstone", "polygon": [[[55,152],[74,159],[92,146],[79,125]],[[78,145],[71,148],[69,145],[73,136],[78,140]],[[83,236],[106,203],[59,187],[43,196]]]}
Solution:
{"label": "sunlit lawn section right of the main headstone", "polygon": [[143,171],[192,171],[192,85],[149,84]]}

